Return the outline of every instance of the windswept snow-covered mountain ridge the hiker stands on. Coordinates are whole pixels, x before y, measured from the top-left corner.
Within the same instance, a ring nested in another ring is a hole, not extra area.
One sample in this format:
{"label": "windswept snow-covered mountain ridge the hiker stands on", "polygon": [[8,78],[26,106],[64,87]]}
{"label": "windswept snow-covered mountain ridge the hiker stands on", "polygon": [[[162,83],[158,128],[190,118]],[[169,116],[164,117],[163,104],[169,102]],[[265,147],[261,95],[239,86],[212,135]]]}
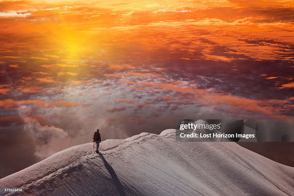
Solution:
{"label": "windswept snow-covered mountain ridge the hiker stands on", "polygon": [[293,167],[233,142],[176,142],[169,129],[103,141],[100,155],[92,149],[63,150],[0,187],[31,195],[294,195]]}

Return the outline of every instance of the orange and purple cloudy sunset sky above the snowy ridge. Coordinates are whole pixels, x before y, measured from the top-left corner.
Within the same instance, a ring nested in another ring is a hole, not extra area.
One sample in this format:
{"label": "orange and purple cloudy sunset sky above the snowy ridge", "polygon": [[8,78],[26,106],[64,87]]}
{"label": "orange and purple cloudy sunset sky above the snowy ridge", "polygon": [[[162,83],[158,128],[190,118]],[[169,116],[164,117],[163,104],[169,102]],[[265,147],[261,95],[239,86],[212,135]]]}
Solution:
{"label": "orange and purple cloudy sunset sky above the snowy ridge", "polygon": [[0,166],[97,128],[105,140],[175,119],[293,118],[293,24],[290,0],[0,1],[0,155],[18,154]]}

